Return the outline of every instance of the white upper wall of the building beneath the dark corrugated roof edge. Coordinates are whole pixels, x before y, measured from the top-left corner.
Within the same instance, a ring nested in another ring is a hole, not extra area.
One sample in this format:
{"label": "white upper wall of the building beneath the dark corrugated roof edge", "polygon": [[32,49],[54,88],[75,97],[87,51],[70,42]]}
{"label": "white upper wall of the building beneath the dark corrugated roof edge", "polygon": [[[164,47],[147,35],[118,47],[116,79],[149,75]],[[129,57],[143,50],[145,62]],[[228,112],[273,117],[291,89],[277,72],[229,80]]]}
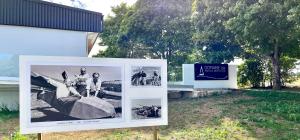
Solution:
{"label": "white upper wall of the building beneath the dark corrugated roof edge", "polygon": [[0,52],[87,56],[86,32],[0,25]]}

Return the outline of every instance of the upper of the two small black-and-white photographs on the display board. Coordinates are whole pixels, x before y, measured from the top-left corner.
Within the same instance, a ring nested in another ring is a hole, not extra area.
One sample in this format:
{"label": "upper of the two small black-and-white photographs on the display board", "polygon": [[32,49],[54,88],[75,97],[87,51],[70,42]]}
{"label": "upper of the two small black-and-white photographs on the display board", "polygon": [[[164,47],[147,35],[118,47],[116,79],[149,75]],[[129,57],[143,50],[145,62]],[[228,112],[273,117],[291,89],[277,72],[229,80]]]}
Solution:
{"label": "upper of the two small black-and-white photographs on the display board", "polygon": [[136,87],[161,86],[161,68],[152,66],[133,66],[131,85]]}

